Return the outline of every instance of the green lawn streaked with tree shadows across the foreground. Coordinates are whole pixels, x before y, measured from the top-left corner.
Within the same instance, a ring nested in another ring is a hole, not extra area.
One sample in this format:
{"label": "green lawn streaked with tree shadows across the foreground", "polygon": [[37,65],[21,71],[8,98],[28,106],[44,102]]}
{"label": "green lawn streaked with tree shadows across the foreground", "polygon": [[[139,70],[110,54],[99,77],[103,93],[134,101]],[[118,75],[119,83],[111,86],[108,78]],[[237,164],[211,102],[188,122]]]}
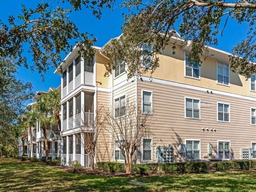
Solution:
{"label": "green lawn streaked with tree shadows across the foreground", "polygon": [[[154,177],[73,174],[40,163],[0,158],[0,191],[255,191],[256,172],[215,172]],[[127,181],[142,181],[134,186]]]}

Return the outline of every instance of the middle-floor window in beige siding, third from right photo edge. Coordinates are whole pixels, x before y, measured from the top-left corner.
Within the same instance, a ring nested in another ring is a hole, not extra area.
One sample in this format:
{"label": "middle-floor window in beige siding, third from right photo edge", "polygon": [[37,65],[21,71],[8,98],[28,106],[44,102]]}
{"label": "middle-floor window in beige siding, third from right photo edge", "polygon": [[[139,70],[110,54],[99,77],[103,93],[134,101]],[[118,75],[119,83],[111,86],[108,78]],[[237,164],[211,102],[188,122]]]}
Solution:
{"label": "middle-floor window in beige siding, third from right photo edge", "polygon": [[200,118],[200,100],[186,98],[186,117]]}

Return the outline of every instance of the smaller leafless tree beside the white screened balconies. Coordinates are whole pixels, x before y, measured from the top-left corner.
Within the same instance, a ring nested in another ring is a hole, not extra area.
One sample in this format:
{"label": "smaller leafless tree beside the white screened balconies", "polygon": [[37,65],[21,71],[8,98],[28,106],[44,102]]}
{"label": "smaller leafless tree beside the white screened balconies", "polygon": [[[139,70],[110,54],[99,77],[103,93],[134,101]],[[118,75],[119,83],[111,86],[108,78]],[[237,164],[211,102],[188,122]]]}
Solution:
{"label": "smaller leafless tree beside the white screened balconies", "polygon": [[81,135],[78,139],[81,141],[82,149],[85,149],[89,156],[90,168],[94,170],[94,158],[96,155],[96,148],[98,140],[104,142],[101,138],[104,137],[104,127],[106,126],[105,114],[107,108],[104,106],[98,106],[96,113],[87,113],[85,110],[81,110],[81,116],[78,114],[75,119],[74,132],[76,135]]}

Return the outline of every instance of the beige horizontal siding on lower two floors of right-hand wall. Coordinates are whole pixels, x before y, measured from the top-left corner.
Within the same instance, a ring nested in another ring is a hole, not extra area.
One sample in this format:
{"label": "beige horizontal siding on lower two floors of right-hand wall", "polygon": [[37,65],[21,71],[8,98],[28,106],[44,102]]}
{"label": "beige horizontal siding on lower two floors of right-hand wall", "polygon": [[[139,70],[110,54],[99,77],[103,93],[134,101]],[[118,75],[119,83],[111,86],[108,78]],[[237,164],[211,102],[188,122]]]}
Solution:
{"label": "beige horizontal siding on lower two floors of right-hand wall", "polygon": [[[228,140],[231,158],[239,159],[241,148],[250,148],[251,142],[256,141],[256,126],[251,125],[251,107],[256,107],[254,101],[214,94],[214,91],[210,94],[138,81],[139,105],[141,90],[153,91],[154,115],[151,116],[150,135],[154,138],[154,150],[157,146],[174,145],[175,155],[179,156],[178,145],[185,143],[185,139],[201,139],[201,159],[204,159],[209,143],[213,153],[218,154],[218,140]],[[185,118],[185,97],[201,100],[201,119]],[[230,123],[217,122],[217,102],[230,104]],[[211,128],[217,131],[211,131]]]}

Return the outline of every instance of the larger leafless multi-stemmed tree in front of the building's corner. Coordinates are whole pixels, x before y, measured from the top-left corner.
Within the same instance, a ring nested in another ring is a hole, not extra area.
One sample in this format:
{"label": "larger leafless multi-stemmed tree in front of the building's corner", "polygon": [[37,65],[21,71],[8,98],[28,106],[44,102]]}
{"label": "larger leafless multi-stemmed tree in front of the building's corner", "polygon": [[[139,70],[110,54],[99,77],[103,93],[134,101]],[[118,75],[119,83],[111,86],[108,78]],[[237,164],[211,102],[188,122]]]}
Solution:
{"label": "larger leafless multi-stemmed tree in front of the building's corner", "polygon": [[142,114],[135,102],[126,100],[125,108],[107,111],[106,121],[107,131],[124,156],[126,173],[130,174],[135,151],[139,149],[141,139],[149,136],[149,115]]}

